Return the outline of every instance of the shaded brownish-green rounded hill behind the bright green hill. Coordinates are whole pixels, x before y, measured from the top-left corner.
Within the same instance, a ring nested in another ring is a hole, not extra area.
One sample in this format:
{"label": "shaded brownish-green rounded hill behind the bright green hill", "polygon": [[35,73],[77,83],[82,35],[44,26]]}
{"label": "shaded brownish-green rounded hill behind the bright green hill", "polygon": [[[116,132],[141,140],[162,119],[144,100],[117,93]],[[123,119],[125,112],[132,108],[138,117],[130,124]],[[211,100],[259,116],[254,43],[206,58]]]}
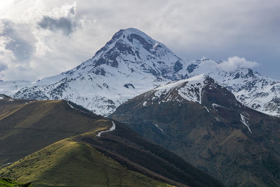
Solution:
{"label": "shaded brownish-green rounded hill behind the bright green hill", "polygon": [[3,106],[0,165],[13,163],[59,140],[108,125],[102,121],[103,117],[75,110],[61,100],[29,103],[29,100],[2,99],[0,106]]}

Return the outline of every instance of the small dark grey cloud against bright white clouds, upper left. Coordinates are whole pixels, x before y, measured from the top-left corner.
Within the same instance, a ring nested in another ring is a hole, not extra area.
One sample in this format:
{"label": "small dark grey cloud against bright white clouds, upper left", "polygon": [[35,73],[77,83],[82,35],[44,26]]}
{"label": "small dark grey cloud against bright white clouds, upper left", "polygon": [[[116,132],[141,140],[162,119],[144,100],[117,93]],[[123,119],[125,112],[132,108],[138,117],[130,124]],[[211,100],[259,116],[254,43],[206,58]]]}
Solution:
{"label": "small dark grey cloud against bright white clouds, upper left", "polygon": [[[73,9],[70,9],[71,13],[74,13]],[[44,16],[43,19],[38,22],[38,25],[43,29],[49,29],[50,31],[61,30],[64,35],[69,36],[73,33],[76,28],[75,22],[66,18],[60,17],[59,19],[51,18],[49,16]]]}

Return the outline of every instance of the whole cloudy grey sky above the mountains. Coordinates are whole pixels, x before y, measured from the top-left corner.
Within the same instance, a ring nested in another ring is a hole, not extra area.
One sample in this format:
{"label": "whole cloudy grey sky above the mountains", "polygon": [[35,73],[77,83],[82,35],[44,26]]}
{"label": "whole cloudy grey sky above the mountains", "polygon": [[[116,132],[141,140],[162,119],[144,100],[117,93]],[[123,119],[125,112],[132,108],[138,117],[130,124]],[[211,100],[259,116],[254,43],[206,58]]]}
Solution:
{"label": "whole cloudy grey sky above the mountains", "polygon": [[279,10],[279,0],[0,1],[0,79],[57,75],[134,27],[181,58],[249,61],[280,80]]}

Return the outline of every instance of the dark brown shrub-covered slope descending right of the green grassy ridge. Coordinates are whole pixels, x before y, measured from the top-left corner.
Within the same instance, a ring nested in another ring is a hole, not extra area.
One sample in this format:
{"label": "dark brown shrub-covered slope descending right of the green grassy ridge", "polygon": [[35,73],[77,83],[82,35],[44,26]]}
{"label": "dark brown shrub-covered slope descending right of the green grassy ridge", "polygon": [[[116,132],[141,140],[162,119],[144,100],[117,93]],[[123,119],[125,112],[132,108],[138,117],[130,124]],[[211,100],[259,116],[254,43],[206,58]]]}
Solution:
{"label": "dark brown shrub-covered slope descending right of the green grassy ridge", "polygon": [[117,121],[115,124],[114,131],[99,138],[85,133],[74,140],[87,143],[130,170],[174,186],[224,186],[215,177],[193,167],[168,149],[147,141]]}

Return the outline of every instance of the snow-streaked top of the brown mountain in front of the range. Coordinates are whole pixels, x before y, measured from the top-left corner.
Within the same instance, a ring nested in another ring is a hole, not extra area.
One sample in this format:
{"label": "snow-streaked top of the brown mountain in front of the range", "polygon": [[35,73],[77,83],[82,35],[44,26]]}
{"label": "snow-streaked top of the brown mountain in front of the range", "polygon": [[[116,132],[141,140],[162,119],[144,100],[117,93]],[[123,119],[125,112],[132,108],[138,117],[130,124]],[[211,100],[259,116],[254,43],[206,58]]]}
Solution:
{"label": "snow-streaked top of the brown mountain in front of the range", "polygon": [[[213,95],[219,99],[213,100]],[[209,102],[210,97],[214,103]],[[223,101],[221,102],[221,100]],[[155,103],[164,106],[166,103],[172,102],[176,103],[174,105],[180,106],[182,103],[189,103],[190,101],[200,104],[207,112],[213,114],[211,116],[214,120],[222,121],[223,123],[230,123],[231,120],[228,121],[229,117],[225,117],[224,114],[220,113],[221,110],[233,109],[235,114],[232,117],[234,119],[232,121],[238,121],[238,123],[245,125],[248,131],[252,133],[248,123],[252,117],[246,112],[246,110],[250,109],[237,101],[230,91],[206,74],[162,84],[127,103],[133,105],[131,106],[132,108],[135,107],[135,103],[142,108],[154,108]],[[131,102],[134,104],[131,104]],[[123,105],[127,105],[127,103]],[[118,110],[113,115],[117,112]],[[138,114],[139,112],[136,111],[136,113]],[[133,114],[131,115],[134,116]]]}

